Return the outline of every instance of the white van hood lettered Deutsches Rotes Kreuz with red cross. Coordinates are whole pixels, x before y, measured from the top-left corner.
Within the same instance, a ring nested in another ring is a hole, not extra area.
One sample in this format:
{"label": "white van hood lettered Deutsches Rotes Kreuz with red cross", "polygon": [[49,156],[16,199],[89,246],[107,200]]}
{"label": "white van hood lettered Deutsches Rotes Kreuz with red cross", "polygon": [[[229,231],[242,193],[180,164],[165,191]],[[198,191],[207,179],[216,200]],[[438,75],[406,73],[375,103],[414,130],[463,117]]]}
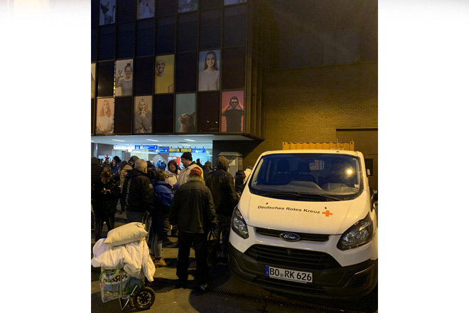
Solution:
{"label": "white van hood lettered Deutsches Rotes Kreuz with red cross", "polygon": [[[243,195],[244,196],[244,195]],[[347,201],[292,201],[248,193],[239,201],[247,225],[298,233],[341,235],[367,216],[367,192]]]}

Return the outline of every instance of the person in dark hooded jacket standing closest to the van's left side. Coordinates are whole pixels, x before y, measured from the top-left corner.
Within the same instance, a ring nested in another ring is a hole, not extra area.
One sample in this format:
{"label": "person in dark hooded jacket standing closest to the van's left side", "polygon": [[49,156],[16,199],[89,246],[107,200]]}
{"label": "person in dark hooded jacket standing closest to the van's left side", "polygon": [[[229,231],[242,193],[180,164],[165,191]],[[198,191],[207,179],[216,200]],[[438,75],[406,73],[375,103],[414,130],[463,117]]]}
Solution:
{"label": "person in dark hooded jacket standing closest to the van's left side", "polygon": [[[228,264],[228,239],[230,238],[230,222],[238,197],[234,190],[233,176],[228,172],[228,161],[225,157],[218,157],[217,170],[207,175],[205,185],[212,191],[215,212],[217,213],[218,228],[221,230],[222,245],[220,245],[220,257],[222,264]],[[217,242],[220,240],[220,232],[217,232]]]}

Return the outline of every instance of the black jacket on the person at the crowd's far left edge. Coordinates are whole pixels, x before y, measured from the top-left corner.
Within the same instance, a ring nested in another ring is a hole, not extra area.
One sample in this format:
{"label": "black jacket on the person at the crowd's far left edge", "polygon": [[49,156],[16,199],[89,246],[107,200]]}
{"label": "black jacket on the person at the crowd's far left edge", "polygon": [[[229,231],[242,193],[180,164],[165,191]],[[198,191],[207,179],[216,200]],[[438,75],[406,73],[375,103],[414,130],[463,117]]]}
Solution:
{"label": "black jacket on the person at the crowd's far left edge", "polygon": [[[103,193],[104,190],[110,192]],[[96,181],[91,187],[93,211],[98,214],[116,213],[119,194],[119,186],[114,181],[108,181],[107,184],[104,184],[101,180]]]}

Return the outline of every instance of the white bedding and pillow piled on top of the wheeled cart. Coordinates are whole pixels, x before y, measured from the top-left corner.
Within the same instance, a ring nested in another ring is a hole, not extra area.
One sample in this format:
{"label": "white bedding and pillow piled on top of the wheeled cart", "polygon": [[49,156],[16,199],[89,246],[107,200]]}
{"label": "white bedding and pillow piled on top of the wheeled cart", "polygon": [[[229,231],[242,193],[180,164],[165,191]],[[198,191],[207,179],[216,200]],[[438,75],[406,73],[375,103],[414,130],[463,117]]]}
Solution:
{"label": "white bedding and pillow piled on top of the wheeled cart", "polygon": [[144,224],[134,222],[114,228],[93,246],[93,267],[123,268],[130,276],[153,282],[155,265],[150,258]]}

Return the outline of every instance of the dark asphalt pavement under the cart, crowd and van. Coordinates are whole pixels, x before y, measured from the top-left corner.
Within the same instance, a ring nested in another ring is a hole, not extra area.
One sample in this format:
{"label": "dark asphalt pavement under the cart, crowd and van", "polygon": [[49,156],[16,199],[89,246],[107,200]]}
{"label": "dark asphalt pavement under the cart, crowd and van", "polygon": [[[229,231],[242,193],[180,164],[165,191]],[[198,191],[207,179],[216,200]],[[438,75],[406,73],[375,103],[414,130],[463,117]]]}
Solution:
{"label": "dark asphalt pavement under the cart, crowd and van", "polygon": [[[126,223],[125,214],[117,213],[115,226]],[[104,226],[104,234],[107,231]],[[176,238],[170,237],[174,243]],[[91,247],[95,244],[91,233]],[[176,262],[178,248],[174,245],[163,247],[163,258],[167,267],[158,267],[149,287],[156,294],[155,303],[146,312],[377,312],[377,288],[366,297],[356,301],[338,301],[298,297],[288,294],[273,293],[260,287],[242,282],[232,277],[228,265],[217,264],[209,267],[210,290],[201,291],[195,284],[195,254],[190,252],[188,286],[177,288]],[[99,268],[91,270],[91,312],[110,313],[121,311],[119,299],[102,302],[99,289]],[[133,307],[126,307],[125,312],[139,312]]]}

